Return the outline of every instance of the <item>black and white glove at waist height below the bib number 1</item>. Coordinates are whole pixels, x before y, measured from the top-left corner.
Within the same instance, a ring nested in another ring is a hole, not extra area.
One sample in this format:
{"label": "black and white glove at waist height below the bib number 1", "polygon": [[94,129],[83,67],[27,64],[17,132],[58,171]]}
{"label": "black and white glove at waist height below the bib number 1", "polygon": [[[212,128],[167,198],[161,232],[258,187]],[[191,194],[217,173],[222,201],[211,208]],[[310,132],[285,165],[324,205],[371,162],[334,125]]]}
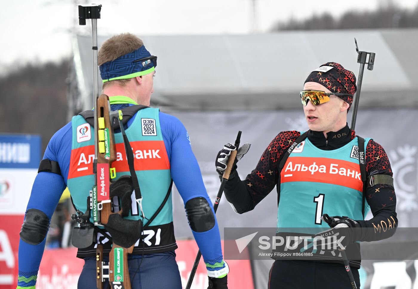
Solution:
{"label": "black and white glove at waist height below the bib number 1", "polygon": [[326,249],[345,249],[348,245],[360,240],[361,232],[360,229],[357,229],[361,227],[359,222],[345,216],[330,217],[328,214],[324,214],[321,219],[324,220],[331,229],[318,233],[315,236],[322,236],[325,238],[324,242],[326,244]]}

